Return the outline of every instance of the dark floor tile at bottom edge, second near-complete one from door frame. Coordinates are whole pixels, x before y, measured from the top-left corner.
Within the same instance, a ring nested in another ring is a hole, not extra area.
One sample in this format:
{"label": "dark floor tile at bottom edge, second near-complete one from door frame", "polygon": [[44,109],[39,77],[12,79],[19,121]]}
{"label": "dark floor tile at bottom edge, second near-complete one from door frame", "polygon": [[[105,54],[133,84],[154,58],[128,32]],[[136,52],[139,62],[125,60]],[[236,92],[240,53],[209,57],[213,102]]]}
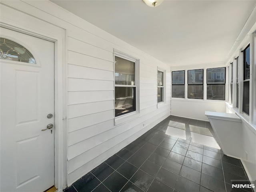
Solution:
{"label": "dark floor tile at bottom edge, second near-complete one from door frame", "polygon": [[115,171],[108,178],[106,178],[103,184],[112,192],[119,192],[127,182],[128,180],[126,178]]}

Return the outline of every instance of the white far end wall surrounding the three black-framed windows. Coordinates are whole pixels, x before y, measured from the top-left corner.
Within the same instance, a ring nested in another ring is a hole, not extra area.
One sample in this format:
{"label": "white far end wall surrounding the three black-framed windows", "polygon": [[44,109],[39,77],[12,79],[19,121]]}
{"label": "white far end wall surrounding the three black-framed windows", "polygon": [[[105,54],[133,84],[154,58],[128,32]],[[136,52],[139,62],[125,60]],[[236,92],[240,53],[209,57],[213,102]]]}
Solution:
{"label": "white far end wall surrounding the three black-framed windows", "polygon": [[[200,65],[190,65],[190,66],[172,66],[172,71],[185,70],[185,98],[172,98],[171,99],[171,114],[174,116],[181,116],[186,118],[198,119],[209,121],[204,115],[205,111],[214,112],[225,112],[225,101],[221,100],[207,100],[206,99],[206,69],[207,68],[217,68],[224,67],[224,62],[220,63],[209,63]],[[204,69],[204,99],[188,99],[188,86],[187,86],[187,74],[188,70]],[[228,74],[226,74],[228,76]],[[228,84],[226,84],[226,93],[228,92]],[[227,94],[226,94],[227,98]]]}

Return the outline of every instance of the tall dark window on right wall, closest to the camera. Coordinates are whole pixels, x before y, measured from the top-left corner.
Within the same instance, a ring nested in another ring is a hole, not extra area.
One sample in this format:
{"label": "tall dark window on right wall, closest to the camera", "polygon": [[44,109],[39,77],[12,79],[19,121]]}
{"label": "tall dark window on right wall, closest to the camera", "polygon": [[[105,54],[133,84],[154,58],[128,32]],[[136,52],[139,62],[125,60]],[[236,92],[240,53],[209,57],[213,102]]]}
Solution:
{"label": "tall dark window on right wall, closest to the camera", "polygon": [[243,109],[249,115],[250,100],[250,45],[244,49],[244,86],[243,86]]}

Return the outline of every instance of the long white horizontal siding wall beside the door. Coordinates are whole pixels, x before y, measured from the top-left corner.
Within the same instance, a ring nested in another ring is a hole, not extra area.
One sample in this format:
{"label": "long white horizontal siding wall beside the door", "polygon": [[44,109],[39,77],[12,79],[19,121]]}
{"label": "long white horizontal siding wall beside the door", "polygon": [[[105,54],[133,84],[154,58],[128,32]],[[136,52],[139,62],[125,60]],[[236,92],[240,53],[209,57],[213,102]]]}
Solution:
{"label": "long white horizontal siding wall beside the door", "polygon": [[[1,1],[1,16],[67,30],[68,186],[170,115],[170,67],[49,1]],[[18,17],[18,18],[17,18]],[[114,126],[114,49],[140,59],[140,117]],[[157,107],[157,68],[166,103]],[[146,126],[143,126],[146,124]]]}

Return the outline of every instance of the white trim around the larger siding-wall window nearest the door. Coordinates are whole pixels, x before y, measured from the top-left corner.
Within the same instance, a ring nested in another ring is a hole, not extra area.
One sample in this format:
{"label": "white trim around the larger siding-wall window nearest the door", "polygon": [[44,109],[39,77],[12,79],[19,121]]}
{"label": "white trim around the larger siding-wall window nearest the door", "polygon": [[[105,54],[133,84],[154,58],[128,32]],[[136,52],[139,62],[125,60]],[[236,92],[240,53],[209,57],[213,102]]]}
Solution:
{"label": "white trim around the larger siding-wall window nearest the door", "polygon": [[[125,122],[131,121],[134,118],[138,118],[140,116],[140,100],[139,100],[140,99],[140,80],[139,80],[139,78],[140,78],[140,60],[114,49],[114,62],[113,62],[113,64],[114,64],[114,87],[116,86],[116,83],[115,83],[115,56],[135,62],[135,86],[132,86],[132,87],[136,87],[136,96],[135,96],[136,111],[116,117],[115,102],[114,102],[114,125],[120,125]],[[117,86],[122,86],[122,85],[117,85]],[[115,88],[114,88],[114,97],[115,97]],[[114,98],[114,101],[115,101],[115,99],[116,98]]]}

